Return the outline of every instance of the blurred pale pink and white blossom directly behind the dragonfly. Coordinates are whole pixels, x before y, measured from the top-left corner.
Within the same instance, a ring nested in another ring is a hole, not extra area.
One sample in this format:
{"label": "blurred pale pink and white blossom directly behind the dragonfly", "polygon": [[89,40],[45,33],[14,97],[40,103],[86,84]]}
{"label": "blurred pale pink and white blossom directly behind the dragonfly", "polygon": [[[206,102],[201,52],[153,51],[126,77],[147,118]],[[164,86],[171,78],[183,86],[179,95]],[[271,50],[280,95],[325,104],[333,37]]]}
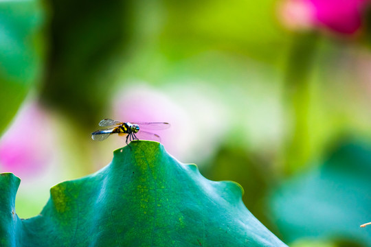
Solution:
{"label": "blurred pale pink and white blossom directly behind the dragonfly", "polygon": [[[141,82],[126,85],[114,98],[112,118],[166,121],[170,128],[148,131],[159,134],[166,150],[180,161],[202,163],[214,155],[225,135],[215,123],[227,119],[222,117],[227,110],[218,103],[220,97],[214,97],[213,89],[202,85],[168,86],[161,91]],[[115,140],[120,147],[125,143],[124,139]]]}

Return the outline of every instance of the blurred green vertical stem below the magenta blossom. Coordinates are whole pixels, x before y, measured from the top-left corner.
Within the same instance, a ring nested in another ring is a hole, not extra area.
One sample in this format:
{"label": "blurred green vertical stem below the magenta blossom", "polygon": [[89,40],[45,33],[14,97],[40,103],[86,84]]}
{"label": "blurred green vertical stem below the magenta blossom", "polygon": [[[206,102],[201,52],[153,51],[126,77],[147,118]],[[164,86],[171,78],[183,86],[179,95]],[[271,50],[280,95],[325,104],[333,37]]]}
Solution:
{"label": "blurred green vertical stem below the magenta blossom", "polygon": [[307,161],[311,152],[309,131],[309,106],[311,71],[315,64],[318,36],[315,33],[300,34],[293,40],[286,75],[284,78],[284,100],[291,109],[291,136],[286,143],[285,169],[292,174]]}

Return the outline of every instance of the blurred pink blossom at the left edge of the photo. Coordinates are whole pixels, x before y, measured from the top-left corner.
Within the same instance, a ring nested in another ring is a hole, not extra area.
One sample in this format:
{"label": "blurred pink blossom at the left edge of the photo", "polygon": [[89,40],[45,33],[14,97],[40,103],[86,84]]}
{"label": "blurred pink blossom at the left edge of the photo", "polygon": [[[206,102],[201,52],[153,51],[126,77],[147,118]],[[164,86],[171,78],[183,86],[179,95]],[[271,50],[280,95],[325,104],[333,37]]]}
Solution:
{"label": "blurred pink blossom at the left edge of the photo", "polygon": [[47,115],[36,103],[25,104],[0,139],[0,172],[34,176],[47,165],[52,145]]}

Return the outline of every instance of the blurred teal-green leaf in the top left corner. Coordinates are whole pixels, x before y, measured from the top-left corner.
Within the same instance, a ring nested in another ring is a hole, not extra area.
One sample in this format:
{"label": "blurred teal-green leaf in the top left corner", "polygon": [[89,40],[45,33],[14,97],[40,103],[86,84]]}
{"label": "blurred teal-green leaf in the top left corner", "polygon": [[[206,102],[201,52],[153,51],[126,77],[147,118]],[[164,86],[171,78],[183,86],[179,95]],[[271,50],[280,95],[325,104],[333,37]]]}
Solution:
{"label": "blurred teal-green leaf in the top left corner", "polygon": [[0,1],[0,133],[41,79],[44,21],[39,1]]}

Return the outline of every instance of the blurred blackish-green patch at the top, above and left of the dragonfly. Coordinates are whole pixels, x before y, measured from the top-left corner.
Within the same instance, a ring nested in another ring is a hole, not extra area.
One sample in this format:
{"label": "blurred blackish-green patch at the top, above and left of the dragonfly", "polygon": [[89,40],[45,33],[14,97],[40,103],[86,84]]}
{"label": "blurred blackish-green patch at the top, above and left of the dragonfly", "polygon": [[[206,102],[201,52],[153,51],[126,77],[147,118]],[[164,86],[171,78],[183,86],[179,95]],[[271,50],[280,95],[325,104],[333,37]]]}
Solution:
{"label": "blurred blackish-green patch at the top, above and left of the dragonfly", "polygon": [[[77,122],[99,121],[121,73],[132,1],[50,0],[49,61],[43,100]],[[63,96],[68,92],[69,97]]]}

